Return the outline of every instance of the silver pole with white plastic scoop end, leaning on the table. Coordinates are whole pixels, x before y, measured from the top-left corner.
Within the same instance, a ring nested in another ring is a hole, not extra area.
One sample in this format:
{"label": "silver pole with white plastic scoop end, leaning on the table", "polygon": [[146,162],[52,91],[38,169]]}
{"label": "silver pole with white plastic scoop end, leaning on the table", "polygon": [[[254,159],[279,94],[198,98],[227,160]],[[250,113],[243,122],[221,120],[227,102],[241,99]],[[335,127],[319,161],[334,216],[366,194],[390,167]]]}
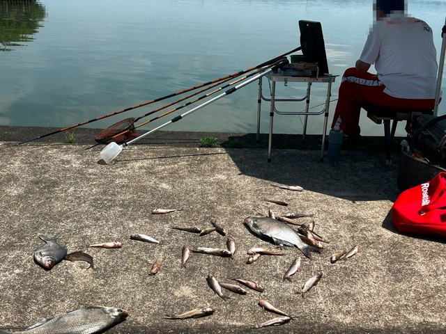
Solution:
{"label": "silver pole with white plastic scoop end, leaning on the table", "polygon": [[186,111],[185,113],[181,114],[180,116],[176,116],[174,118],[172,118],[171,120],[169,120],[169,122],[165,122],[164,124],[160,125],[159,127],[155,127],[155,129],[151,129],[150,131],[146,132],[145,134],[141,134],[141,136],[132,139],[131,141],[129,141],[128,143],[123,143],[121,145],[116,144],[114,141],[112,141],[112,143],[109,143],[109,145],[107,145],[101,152],[100,152],[100,157],[102,158],[102,160],[105,161],[105,164],[109,164],[110,161],[112,161],[114,158],[116,158],[118,156],[119,153],[121,153],[121,151],[123,150],[123,148],[128,147],[128,145],[135,143],[136,141],[139,141],[140,139],[144,138],[145,136],[148,136],[148,134],[151,134],[152,132],[157,131],[158,129],[161,129],[162,127],[165,127],[167,125],[169,125],[170,123],[174,123],[174,122],[178,122],[178,120],[181,120],[182,118],[184,118],[187,115],[190,115],[191,113],[193,113],[194,111],[197,111],[201,108],[203,108],[204,106],[207,106],[208,104],[211,104],[217,100],[220,100],[222,97],[232,94],[234,93],[236,90],[251,84],[253,81],[258,80],[261,77],[266,76],[266,74],[277,70],[279,67],[282,67],[286,64],[288,64],[289,61],[288,59],[284,58],[283,61],[279,61],[279,63],[277,63],[276,65],[268,68],[268,70],[265,70],[259,74],[256,74],[254,77],[248,79],[247,81],[244,81],[240,84],[238,84],[235,87],[229,88],[228,90],[226,90],[224,93],[217,95],[216,97],[213,97],[212,99],[203,102],[202,104],[199,104],[198,106],[196,106],[195,108],[190,109],[190,111]]}

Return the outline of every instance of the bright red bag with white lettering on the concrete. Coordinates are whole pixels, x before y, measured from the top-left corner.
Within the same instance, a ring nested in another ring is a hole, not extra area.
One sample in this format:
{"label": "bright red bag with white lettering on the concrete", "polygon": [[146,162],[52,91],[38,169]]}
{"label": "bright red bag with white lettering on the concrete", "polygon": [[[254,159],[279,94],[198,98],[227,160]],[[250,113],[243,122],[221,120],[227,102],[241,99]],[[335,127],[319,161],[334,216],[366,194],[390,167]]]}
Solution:
{"label": "bright red bag with white lettering on the concrete", "polygon": [[399,232],[440,234],[446,237],[446,172],[403,191],[392,206]]}

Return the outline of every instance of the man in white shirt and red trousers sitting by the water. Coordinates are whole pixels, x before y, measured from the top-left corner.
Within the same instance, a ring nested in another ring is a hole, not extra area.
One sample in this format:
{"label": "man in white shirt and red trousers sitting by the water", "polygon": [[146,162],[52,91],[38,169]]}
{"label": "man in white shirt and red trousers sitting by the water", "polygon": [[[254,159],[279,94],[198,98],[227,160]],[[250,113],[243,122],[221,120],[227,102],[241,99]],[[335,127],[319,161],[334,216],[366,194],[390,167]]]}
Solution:
{"label": "man in white shirt and red trousers sitting by the water", "polygon": [[[346,138],[360,136],[364,104],[390,109],[433,109],[437,56],[431,27],[406,15],[405,0],[376,0],[376,21],[355,67],[348,68],[339,86],[334,111]],[[375,65],[377,74],[367,72]]]}

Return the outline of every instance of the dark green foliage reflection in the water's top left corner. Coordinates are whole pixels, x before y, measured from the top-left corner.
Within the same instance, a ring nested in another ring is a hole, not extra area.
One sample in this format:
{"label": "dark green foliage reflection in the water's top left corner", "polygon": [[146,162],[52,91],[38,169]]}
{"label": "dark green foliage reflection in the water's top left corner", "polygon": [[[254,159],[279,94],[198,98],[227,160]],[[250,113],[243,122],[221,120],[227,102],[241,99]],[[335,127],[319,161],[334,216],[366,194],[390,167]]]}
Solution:
{"label": "dark green foliage reflection in the water's top left corner", "polygon": [[0,0],[0,51],[34,40],[45,15],[45,6],[36,0]]}

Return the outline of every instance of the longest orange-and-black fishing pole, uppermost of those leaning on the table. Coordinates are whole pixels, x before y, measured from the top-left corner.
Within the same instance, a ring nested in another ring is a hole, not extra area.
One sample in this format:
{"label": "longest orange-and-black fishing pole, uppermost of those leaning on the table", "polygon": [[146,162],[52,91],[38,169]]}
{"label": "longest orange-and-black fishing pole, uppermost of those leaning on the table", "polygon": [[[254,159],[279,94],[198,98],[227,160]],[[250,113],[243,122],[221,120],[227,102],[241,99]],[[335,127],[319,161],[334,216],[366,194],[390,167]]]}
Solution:
{"label": "longest orange-and-black fishing pole, uppermost of those leaning on the table", "polygon": [[197,85],[197,86],[193,86],[193,87],[190,87],[190,88],[186,88],[186,89],[184,89],[184,90],[178,90],[178,92],[176,92],[176,93],[171,93],[171,94],[169,94],[169,95],[165,95],[165,96],[163,96],[163,97],[159,97],[159,98],[157,98],[157,99],[155,99],[155,100],[150,100],[150,101],[147,101],[147,102],[142,102],[141,104],[137,104],[137,105],[134,105],[134,106],[130,106],[130,107],[128,107],[128,108],[121,109],[121,110],[119,110],[119,111],[115,111],[114,113],[108,113],[107,115],[99,116],[99,117],[97,117],[97,118],[93,118],[93,119],[91,119],[91,120],[86,120],[86,121],[84,121],[84,122],[80,122],[80,123],[77,123],[77,124],[75,124],[75,125],[70,125],[69,127],[63,127],[63,128],[58,129],[58,130],[56,130],[56,131],[49,132],[48,134],[43,134],[43,135],[41,135],[41,136],[37,136],[37,137],[35,137],[35,138],[28,139],[28,140],[26,140],[26,141],[22,141],[22,142],[18,143],[17,145],[22,145],[22,144],[24,144],[24,143],[29,143],[29,142],[31,142],[31,141],[36,141],[36,140],[38,140],[38,139],[40,139],[40,138],[45,138],[45,137],[47,137],[47,136],[52,136],[53,134],[59,134],[60,132],[64,132],[64,131],[67,131],[67,130],[70,130],[70,129],[74,129],[75,127],[80,127],[80,126],[82,126],[82,125],[86,125],[86,124],[89,124],[89,123],[91,123],[91,122],[95,122],[95,121],[97,121],[97,120],[102,120],[102,119],[107,118],[107,117],[115,116],[115,115],[118,115],[118,114],[120,114],[120,113],[124,113],[125,111],[130,111],[130,110],[133,110],[133,109],[137,109],[137,108],[139,108],[139,107],[141,107],[141,106],[147,106],[148,104],[153,104],[153,103],[155,103],[155,102],[160,102],[160,101],[162,101],[162,100],[166,100],[166,99],[168,99],[168,98],[170,98],[170,97],[174,97],[174,96],[176,96],[176,95],[180,95],[180,94],[183,94],[183,93],[187,93],[187,92],[190,92],[191,90],[195,90],[195,89],[197,89],[197,88],[201,88],[201,87],[204,87],[204,86],[208,86],[208,85],[210,85],[210,84],[215,84],[215,82],[223,81],[223,80],[228,79],[228,78],[238,77],[238,76],[241,75],[241,74],[244,74],[244,73],[247,73],[247,72],[251,72],[252,70],[256,70],[256,69],[259,69],[259,68],[261,68],[261,67],[265,67],[266,65],[269,65],[269,64],[271,64],[271,63],[275,63],[275,62],[278,61],[280,58],[283,58],[284,56],[287,56],[287,55],[289,55],[289,54],[291,54],[291,53],[293,53],[293,52],[295,52],[295,51],[299,51],[300,49],[302,49],[302,47],[296,47],[295,49],[292,49],[291,51],[288,51],[288,52],[286,52],[286,53],[284,53],[284,54],[282,54],[282,55],[280,55],[280,56],[277,56],[277,57],[275,57],[275,58],[272,58],[272,59],[270,59],[269,61],[266,61],[266,62],[264,62],[264,63],[261,63],[261,64],[259,64],[259,65],[253,66],[253,67],[249,67],[249,68],[247,68],[247,69],[245,69],[245,70],[241,70],[241,71],[239,71],[239,72],[234,72],[233,74],[226,75],[225,77],[221,77],[221,78],[218,78],[218,79],[214,79],[214,80],[208,81],[208,82],[206,82],[206,83],[199,84],[199,85]]}

